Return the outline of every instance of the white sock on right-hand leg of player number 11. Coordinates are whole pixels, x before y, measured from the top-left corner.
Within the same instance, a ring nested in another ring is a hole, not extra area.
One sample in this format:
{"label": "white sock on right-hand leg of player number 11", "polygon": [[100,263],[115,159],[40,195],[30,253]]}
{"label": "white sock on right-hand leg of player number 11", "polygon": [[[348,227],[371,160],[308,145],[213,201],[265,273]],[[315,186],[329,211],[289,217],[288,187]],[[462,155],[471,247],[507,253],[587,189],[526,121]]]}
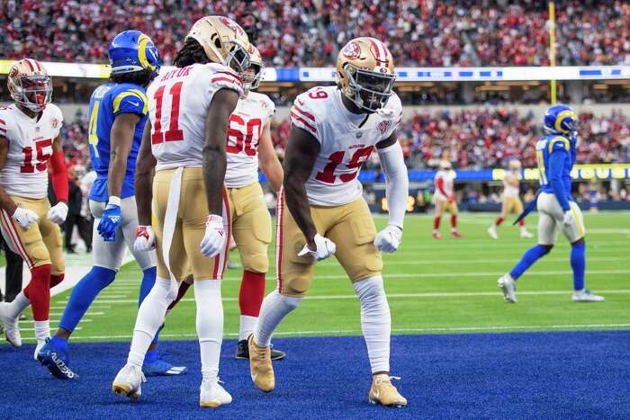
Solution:
{"label": "white sock on right-hand leg of player number 11", "polygon": [[197,304],[197,335],[202,355],[202,379],[217,380],[220,344],[223,339],[223,303],[220,280],[194,281]]}

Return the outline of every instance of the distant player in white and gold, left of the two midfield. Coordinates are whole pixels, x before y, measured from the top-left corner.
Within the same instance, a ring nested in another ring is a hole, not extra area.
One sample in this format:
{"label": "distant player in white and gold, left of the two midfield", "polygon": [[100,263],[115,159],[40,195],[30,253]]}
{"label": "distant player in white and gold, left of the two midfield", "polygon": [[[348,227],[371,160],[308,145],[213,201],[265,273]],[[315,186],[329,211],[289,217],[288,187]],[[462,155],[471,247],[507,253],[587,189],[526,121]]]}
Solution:
{"label": "distant player in white and gold, left of the two midfield", "polygon": [[445,211],[451,213],[451,236],[462,237],[457,230],[457,201],[455,200],[455,171],[451,163],[445,159],[440,161],[439,171],[434,179],[436,191],[433,193],[433,204],[436,206],[436,217],[433,219],[433,237],[441,239],[440,221]]}

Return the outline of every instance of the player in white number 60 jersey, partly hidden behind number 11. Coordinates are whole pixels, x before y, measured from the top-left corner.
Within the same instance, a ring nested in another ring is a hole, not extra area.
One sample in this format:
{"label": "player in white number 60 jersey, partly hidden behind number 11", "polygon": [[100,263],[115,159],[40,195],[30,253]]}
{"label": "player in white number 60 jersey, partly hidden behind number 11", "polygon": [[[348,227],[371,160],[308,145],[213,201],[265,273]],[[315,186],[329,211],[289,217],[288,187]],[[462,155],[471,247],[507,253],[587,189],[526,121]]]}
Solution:
{"label": "player in white number 60 jersey, partly hidden behind number 11", "polygon": [[[258,88],[263,76],[263,58],[254,46],[249,58],[250,67],[243,79],[245,97],[238,101],[236,110],[229,117],[226,146],[228,167],[225,186],[229,220],[243,264],[238,293],[240,328],[237,359],[249,359],[247,337],[256,326],[260,305],[265,298],[265,274],[269,269],[267,250],[271,242],[271,215],[258,183],[258,168],[276,193],[280,192],[283,183],[283,167],[271,140],[271,117],[275,113],[275,104],[265,94],[252,92]],[[189,282],[182,281],[175,302],[184,297],[189,286]],[[276,349],[272,349],[271,353],[272,360],[285,356]]]}

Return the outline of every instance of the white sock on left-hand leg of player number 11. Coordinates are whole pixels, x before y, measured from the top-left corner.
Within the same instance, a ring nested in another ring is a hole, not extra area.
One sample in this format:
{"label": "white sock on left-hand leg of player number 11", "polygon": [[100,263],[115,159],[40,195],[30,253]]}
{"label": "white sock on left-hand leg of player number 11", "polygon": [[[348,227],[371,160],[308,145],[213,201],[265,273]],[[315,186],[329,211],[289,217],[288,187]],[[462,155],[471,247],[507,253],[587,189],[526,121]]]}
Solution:
{"label": "white sock on left-hand leg of player number 11", "polygon": [[153,289],[148,292],[138,309],[136,326],[133,327],[133,338],[127,363],[142,368],[148,346],[153,341],[157,329],[164,322],[166,308],[177,297],[179,283],[170,279],[156,279]]}

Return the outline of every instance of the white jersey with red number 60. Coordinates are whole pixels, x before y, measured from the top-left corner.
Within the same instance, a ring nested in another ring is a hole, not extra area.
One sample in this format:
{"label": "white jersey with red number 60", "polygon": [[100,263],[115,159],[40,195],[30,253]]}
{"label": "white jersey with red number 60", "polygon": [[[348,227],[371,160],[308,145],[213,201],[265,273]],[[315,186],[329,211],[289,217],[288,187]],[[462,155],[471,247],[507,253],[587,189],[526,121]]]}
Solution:
{"label": "white jersey with red number 60", "polygon": [[258,181],[258,145],[275,105],[266,94],[249,92],[229,117],[225,185],[240,188]]}

